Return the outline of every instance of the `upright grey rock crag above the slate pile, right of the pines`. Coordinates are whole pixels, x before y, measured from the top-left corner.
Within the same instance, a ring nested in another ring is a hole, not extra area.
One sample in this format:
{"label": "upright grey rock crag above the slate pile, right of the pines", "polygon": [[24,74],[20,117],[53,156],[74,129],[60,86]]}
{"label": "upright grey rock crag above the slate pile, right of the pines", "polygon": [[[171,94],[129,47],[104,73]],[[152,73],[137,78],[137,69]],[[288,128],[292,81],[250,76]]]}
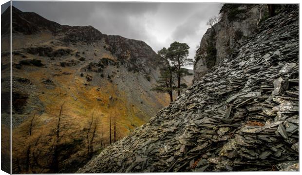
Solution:
{"label": "upright grey rock crag above the slate pile, right of the pines", "polygon": [[207,30],[196,51],[195,81],[251,37],[257,21],[267,18],[268,12],[265,4],[225,4],[219,16],[220,21]]}

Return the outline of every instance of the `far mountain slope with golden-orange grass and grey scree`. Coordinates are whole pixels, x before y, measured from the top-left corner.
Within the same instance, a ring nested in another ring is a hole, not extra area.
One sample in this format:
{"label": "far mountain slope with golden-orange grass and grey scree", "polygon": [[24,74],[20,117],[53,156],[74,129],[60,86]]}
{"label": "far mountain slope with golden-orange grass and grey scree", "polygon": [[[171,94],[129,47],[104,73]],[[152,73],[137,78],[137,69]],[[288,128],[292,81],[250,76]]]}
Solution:
{"label": "far mountain slope with golden-orange grass and grey scree", "polygon": [[[74,172],[110,144],[110,132],[119,140],[169,104],[150,90],[158,55],[145,42],[15,7],[12,20],[13,173],[57,173],[56,162],[58,172]],[[1,54],[2,71],[9,70],[9,48]]]}

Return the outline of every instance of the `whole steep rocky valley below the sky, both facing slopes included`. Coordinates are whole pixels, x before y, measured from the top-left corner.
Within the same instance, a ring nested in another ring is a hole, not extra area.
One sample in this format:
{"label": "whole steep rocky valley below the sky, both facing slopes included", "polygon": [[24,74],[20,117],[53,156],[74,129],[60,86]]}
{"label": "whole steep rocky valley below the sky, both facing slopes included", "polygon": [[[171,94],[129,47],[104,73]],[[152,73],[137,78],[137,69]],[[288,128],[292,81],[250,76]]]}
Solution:
{"label": "whole steep rocky valley below the sky, both facing slopes included", "polygon": [[299,171],[299,5],[259,7],[222,7],[171,103],[145,42],[12,7],[12,173]]}

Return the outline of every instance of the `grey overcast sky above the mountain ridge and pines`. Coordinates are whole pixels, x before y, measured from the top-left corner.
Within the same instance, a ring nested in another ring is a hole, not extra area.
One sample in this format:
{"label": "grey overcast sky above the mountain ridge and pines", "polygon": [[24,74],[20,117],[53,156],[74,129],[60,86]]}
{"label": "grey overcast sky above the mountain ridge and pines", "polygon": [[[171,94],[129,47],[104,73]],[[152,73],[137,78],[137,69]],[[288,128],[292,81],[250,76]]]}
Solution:
{"label": "grey overcast sky above the mountain ridge and pines", "polygon": [[[21,11],[36,12],[61,25],[91,25],[103,34],[145,41],[157,52],[174,41],[189,45],[189,58],[218,15],[219,3],[13,1]],[[192,68],[191,68],[192,69]]]}

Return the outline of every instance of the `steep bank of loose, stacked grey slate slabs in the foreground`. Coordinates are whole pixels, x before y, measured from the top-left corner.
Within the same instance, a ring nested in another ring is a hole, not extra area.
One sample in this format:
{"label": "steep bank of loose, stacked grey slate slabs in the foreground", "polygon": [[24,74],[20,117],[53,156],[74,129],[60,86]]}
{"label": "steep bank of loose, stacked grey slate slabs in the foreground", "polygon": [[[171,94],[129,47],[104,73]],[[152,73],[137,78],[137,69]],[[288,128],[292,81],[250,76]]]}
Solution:
{"label": "steep bank of loose, stacked grey slate slabs in the foreground", "polygon": [[299,7],[78,173],[299,170]]}

